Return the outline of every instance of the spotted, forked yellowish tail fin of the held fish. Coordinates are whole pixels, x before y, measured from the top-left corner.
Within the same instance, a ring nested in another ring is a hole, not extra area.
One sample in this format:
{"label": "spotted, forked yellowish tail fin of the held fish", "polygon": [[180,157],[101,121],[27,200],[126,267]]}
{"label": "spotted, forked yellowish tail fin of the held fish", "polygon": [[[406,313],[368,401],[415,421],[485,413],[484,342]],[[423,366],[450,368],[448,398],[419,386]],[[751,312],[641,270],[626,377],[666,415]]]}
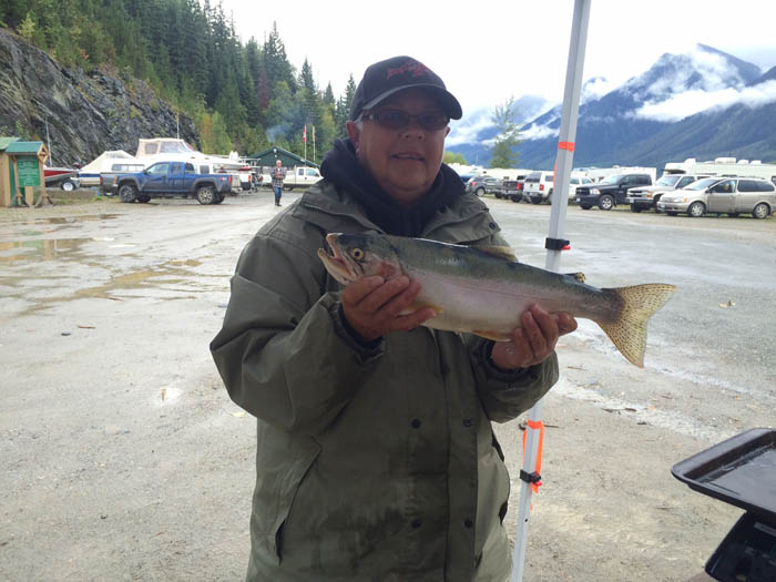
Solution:
{"label": "spotted, forked yellowish tail fin of the held fish", "polygon": [[676,287],[664,283],[649,283],[632,287],[602,289],[620,305],[614,320],[600,323],[620,353],[631,364],[644,367],[646,350],[646,321],[652,314],[665,305]]}

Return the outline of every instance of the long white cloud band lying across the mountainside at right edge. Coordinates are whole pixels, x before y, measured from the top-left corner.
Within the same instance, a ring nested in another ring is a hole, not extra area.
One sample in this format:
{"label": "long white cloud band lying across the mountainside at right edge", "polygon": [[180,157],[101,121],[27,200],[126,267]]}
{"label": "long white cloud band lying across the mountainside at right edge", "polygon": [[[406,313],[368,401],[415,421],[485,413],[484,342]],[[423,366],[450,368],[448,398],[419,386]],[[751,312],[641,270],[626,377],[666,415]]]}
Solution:
{"label": "long white cloud band lying across the mountainside at right edge", "polygon": [[695,89],[671,96],[665,101],[647,101],[629,116],[674,122],[702,111],[714,111],[741,103],[758,108],[776,101],[776,81],[754,86],[726,88],[716,91]]}

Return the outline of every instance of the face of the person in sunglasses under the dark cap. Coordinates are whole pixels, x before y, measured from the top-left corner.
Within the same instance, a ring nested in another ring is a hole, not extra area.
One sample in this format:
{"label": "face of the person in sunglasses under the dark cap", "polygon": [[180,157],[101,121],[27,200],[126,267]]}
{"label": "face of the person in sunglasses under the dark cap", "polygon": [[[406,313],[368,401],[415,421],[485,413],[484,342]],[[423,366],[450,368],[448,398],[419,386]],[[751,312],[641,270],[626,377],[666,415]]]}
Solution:
{"label": "face of the person in sunglasses under the dark cap", "polygon": [[[410,115],[442,112],[433,96],[422,89],[400,91],[370,112],[385,109]],[[447,126],[426,130],[416,118],[399,130],[384,127],[376,120],[364,120],[360,130],[349,121],[347,130],[361,165],[402,206],[417,202],[431,187],[442,163],[445,137],[450,132]]]}

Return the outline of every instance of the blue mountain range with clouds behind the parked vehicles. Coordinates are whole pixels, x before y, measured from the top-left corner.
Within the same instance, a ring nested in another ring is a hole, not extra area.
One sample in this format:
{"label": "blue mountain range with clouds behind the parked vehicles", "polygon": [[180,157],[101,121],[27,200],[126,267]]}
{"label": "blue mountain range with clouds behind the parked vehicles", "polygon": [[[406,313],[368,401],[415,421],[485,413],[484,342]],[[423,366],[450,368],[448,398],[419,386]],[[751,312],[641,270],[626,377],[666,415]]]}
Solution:
{"label": "blue mountain range with clouds behind the parked vehicles", "polygon": [[[580,98],[575,166],[663,167],[687,157],[776,161],[776,67],[760,69],[698,44],[665,53],[644,73],[612,91],[605,79],[585,81]],[[519,167],[551,170],[558,152],[561,106],[533,95],[515,101],[523,142]],[[452,127],[447,150],[488,165],[498,134],[483,110]]]}

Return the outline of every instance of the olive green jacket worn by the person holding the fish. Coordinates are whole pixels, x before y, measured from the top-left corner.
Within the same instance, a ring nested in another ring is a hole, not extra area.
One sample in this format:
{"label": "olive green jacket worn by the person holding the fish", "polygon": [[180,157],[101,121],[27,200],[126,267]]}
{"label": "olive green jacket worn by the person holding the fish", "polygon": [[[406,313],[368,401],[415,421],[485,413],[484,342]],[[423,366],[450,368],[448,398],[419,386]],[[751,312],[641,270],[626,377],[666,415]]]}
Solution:
{"label": "olive green jacket worn by the person holding the fish", "polygon": [[[462,195],[423,238],[504,245]],[[491,343],[418,327],[365,347],[343,326],[340,285],[316,252],[327,233],[381,232],[324,180],[243,251],[211,350],[257,421],[248,580],[493,580],[509,576],[510,481],[491,421],[558,379],[503,374]]]}

